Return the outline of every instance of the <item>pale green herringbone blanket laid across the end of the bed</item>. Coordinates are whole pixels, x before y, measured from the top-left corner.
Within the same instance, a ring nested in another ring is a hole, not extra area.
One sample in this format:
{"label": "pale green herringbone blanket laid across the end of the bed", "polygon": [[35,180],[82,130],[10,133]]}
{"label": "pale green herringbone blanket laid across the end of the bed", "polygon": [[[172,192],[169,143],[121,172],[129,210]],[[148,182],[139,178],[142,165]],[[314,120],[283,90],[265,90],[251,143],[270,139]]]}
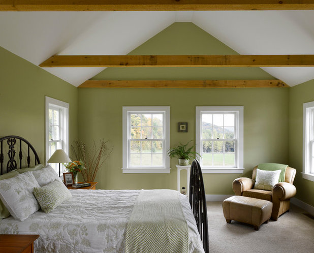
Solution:
{"label": "pale green herringbone blanket laid across the end of the bed", "polygon": [[178,194],[141,191],[125,233],[125,253],[187,252],[189,232]]}

